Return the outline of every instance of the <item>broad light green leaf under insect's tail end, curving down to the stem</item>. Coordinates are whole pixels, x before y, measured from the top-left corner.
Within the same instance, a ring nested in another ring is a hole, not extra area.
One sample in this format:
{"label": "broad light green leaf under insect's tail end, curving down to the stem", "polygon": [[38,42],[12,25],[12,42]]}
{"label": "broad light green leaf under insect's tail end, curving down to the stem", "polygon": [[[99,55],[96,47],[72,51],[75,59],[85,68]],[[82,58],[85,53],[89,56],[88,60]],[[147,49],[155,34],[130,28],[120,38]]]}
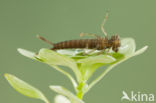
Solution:
{"label": "broad light green leaf under insect's tail end, curving down to the stem", "polygon": [[76,62],[65,56],[61,55],[55,51],[49,49],[41,49],[38,55],[38,58],[41,59],[44,63],[47,63],[51,66],[53,65],[62,65],[67,66],[73,70],[75,73],[77,80],[80,81],[81,73],[77,68]]}

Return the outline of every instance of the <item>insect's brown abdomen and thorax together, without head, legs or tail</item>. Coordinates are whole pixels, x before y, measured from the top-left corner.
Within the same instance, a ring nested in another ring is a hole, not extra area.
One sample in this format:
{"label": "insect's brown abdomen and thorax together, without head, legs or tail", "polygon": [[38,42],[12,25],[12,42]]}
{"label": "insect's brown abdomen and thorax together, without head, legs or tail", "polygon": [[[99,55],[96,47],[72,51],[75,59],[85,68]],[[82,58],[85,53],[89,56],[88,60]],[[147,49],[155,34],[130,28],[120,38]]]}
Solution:
{"label": "insect's brown abdomen and thorax together, without head, legs or tail", "polygon": [[69,40],[54,44],[52,50],[57,49],[75,49],[75,48],[88,48],[103,50],[109,48],[107,38],[99,39],[80,39],[80,40]]}

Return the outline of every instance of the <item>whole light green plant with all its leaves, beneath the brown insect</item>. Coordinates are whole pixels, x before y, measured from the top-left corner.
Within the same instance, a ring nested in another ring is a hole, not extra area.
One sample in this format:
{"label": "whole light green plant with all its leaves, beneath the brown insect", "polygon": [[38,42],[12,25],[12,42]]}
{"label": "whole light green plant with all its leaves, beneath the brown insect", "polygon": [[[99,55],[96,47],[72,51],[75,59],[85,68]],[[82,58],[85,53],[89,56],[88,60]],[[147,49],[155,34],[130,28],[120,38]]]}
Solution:
{"label": "whole light green plant with all its leaves, beneath the brown insect", "polygon": [[[52,51],[44,48],[41,49],[38,54],[24,49],[18,49],[18,51],[26,57],[50,65],[71,80],[76,92],[75,95],[62,86],[49,86],[51,90],[59,94],[54,99],[55,103],[84,103],[82,100],[83,96],[110,70],[112,70],[112,68],[133,56],[143,53],[147,47],[148,46],[145,46],[142,49],[135,51],[136,45],[134,39],[122,38],[121,47],[119,48],[118,53],[110,51],[109,53],[99,55],[99,51],[95,51],[88,55],[83,55],[84,50],[79,49]],[[60,66],[66,66],[71,69],[76,78],[64,71]],[[95,80],[91,81],[91,83],[88,83],[90,77],[101,66],[105,66],[103,73],[101,73]],[[38,89],[11,74],[5,74],[5,77],[11,86],[21,94],[41,99],[45,103],[50,103]]]}

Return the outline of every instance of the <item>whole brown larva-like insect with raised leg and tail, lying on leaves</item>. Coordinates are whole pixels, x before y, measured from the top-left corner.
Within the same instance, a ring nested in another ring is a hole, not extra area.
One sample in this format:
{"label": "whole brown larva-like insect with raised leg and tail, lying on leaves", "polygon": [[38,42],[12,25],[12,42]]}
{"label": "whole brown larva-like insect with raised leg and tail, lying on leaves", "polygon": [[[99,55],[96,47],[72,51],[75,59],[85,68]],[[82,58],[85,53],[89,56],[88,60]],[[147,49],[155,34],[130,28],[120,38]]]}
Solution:
{"label": "whole brown larva-like insect with raised leg and tail, lying on leaves", "polygon": [[95,38],[68,40],[59,43],[52,43],[41,36],[38,36],[38,38],[52,45],[53,48],[51,48],[51,50],[87,48],[93,50],[101,50],[102,52],[104,52],[106,49],[110,50],[110,48],[112,48],[114,52],[118,52],[119,50],[118,48],[120,47],[120,37],[119,35],[114,35],[110,39],[108,38],[107,33],[104,29],[104,24],[107,19],[108,19],[108,13],[106,14],[104,21],[101,24],[101,30],[104,33],[105,37],[101,37],[96,34],[81,33],[80,36],[90,35],[90,36],[94,36]]}

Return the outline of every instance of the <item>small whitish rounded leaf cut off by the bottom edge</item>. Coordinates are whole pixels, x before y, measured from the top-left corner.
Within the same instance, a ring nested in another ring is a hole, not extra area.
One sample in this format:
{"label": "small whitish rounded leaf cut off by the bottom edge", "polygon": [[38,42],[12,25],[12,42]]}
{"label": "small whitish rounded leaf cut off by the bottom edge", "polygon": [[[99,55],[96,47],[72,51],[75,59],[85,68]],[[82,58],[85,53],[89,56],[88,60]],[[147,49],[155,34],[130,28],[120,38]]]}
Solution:
{"label": "small whitish rounded leaf cut off by the bottom edge", "polygon": [[54,103],[71,103],[71,102],[65,96],[57,95],[54,99]]}

